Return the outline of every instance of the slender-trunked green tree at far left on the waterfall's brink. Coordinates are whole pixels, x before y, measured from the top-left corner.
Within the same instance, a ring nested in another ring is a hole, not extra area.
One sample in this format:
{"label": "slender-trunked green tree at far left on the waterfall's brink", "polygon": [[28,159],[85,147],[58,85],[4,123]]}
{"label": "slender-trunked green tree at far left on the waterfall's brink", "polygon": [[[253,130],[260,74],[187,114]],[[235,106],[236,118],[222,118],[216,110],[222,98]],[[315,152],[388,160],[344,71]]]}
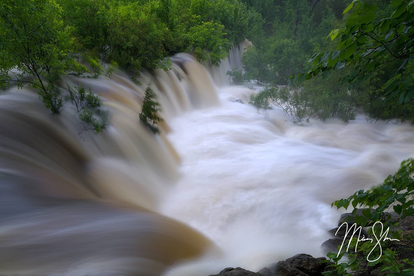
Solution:
{"label": "slender-trunked green tree at far left on the waterfall's brink", "polygon": [[68,55],[72,38],[60,14],[54,0],[3,0],[0,5],[0,85],[37,89],[52,113],[63,106],[56,82],[74,65]]}

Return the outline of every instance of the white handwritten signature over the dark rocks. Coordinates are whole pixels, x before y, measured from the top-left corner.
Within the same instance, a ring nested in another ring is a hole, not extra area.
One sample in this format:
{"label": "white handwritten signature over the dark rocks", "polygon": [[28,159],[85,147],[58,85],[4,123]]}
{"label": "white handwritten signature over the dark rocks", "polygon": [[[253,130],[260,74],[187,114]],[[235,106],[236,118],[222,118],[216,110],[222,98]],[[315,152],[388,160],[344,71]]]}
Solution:
{"label": "white handwritten signature over the dark rocks", "polygon": [[[366,260],[367,260],[368,262],[375,262],[375,261],[377,261],[377,260],[381,257],[381,255],[383,254],[383,249],[382,249],[382,247],[381,247],[381,243],[380,243],[381,241],[384,241],[384,242],[385,242],[386,240],[396,240],[396,241],[400,241],[400,240],[397,240],[397,239],[387,238],[388,231],[390,230],[390,228],[388,227],[388,228],[387,228],[387,230],[385,230],[385,232],[383,233],[383,230],[384,230],[384,225],[383,225],[383,223],[382,223],[382,222],[380,222],[380,221],[375,222],[375,223],[374,223],[374,225],[372,226],[372,229],[374,229],[374,227],[375,227],[375,225],[377,225],[377,223],[379,223],[379,224],[381,225],[381,232],[380,232],[380,236],[379,236],[379,237],[377,237],[377,236],[375,235],[375,232],[373,231],[373,235],[374,235],[375,240],[376,240],[376,242],[377,242],[377,243],[374,245],[374,247],[372,248],[372,250],[369,252],[368,256],[366,257]],[[351,237],[349,238],[348,247],[347,247],[347,251],[346,251],[346,252],[348,252],[349,246],[351,245],[351,239],[352,239],[352,238],[354,238],[354,235],[355,235],[355,233],[356,233],[358,230],[359,230],[359,234],[358,234],[358,240],[356,241],[356,245],[355,245],[355,252],[356,252],[356,247],[358,246],[358,242],[365,242],[365,241],[369,240],[369,241],[371,241],[371,243],[372,243],[372,242],[374,241],[373,239],[368,239],[368,238],[365,238],[365,236],[364,236],[364,235],[363,235],[363,236],[362,236],[362,238],[361,238],[361,230],[362,230],[362,227],[361,227],[361,226],[356,227],[356,223],[352,224],[352,226],[349,228],[349,230],[348,230],[348,223],[346,223],[346,222],[342,223],[342,224],[341,224],[341,226],[339,226],[338,230],[336,231],[335,236],[337,235],[337,233],[338,233],[339,229],[341,229],[341,227],[342,227],[342,226],[344,226],[344,225],[346,225],[346,226],[347,226],[347,232],[345,233],[345,237],[344,237],[344,240],[342,241],[341,248],[339,248],[339,252],[338,252],[337,257],[339,256],[339,253],[342,251],[342,247],[344,246],[344,242],[345,242],[345,240],[347,240],[348,233],[349,233],[349,232],[351,232],[352,228],[354,228],[354,233],[352,233]],[[378,258],[376,258],[375,260],[370,260],[370,259],[369,259],[369,256],[371,255],[371,253],[374,251],[374,249],[375,249],[377,246],[379,246],[379,247],[380,247],[380,255],[379,255],[379,256],[378,256]]]}

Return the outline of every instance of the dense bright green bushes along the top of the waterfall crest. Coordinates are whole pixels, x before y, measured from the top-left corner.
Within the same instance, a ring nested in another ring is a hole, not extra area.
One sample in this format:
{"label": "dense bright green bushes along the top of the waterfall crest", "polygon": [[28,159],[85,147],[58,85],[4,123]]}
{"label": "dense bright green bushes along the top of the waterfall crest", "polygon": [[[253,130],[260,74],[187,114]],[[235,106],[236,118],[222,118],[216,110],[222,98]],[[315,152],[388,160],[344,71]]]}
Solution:
{"label": "dense bright green bushes along the top of the waterfall crest", "polygon": [[168,70],[168,55],[189,50],[217,65],[262,22],[237,0],[58,1],[78,52],[96,50],[132,74]]}

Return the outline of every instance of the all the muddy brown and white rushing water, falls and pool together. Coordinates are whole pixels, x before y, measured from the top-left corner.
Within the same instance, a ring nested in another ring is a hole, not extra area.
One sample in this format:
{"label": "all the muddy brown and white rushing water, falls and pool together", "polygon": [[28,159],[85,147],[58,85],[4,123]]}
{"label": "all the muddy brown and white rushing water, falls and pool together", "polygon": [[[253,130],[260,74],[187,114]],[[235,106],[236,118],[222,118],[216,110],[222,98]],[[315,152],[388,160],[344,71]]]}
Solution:
{"label": "all the muddy brown and white rushing water, falls and pool together", "polygon": [[[142,86],[121,72],[67,79],[103,96],[111,127],[98,135],[32,91],[1,95],[0,274],[201,276],[320,255],[340,214],[331,202],[393,173],[414,128],[263,115],[252,90],[214,84],[240,51],[208,70],[176,55]],[[164,108],[157,137],[138,117],[149,83]]]}

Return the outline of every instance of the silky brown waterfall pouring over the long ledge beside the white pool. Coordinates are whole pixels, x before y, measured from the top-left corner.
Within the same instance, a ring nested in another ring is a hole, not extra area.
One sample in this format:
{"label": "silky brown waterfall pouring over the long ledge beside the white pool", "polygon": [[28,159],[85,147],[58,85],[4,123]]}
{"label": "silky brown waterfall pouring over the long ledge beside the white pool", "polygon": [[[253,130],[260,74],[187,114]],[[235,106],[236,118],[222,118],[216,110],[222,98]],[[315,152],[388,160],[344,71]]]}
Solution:
{"label": "silky brown waterfall pouring over the long ledge beside the white pool", "polygon": [[[169,121],[218,103],[205,67],[172,60],[168,72],[143,72],[142,86],[122,72],[65,79],[102,96],[111,124],[100,134],[82,131],[69,106],[50,115],[30,89],[0,95],[0,274],[159,275],[214,248],[156,213],[179,176]],[[163,107],[160,136],[139,120],[147,85]]]}

